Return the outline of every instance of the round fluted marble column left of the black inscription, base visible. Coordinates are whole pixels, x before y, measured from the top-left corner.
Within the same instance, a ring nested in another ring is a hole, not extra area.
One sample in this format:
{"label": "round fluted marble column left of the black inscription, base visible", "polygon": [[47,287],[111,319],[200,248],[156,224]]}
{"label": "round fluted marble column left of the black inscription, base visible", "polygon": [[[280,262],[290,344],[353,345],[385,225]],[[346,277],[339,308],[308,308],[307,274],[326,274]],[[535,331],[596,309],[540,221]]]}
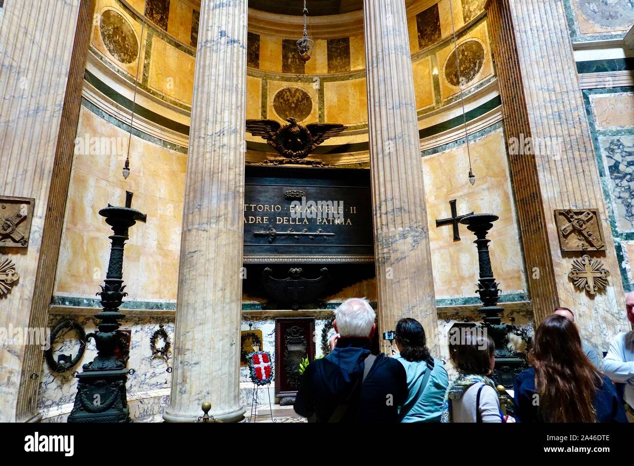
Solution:
{"label": "round fluted marble column left of the black inscription, base visible", "polygon": [[247,0],[202,0],[169,422],[238,421]]}

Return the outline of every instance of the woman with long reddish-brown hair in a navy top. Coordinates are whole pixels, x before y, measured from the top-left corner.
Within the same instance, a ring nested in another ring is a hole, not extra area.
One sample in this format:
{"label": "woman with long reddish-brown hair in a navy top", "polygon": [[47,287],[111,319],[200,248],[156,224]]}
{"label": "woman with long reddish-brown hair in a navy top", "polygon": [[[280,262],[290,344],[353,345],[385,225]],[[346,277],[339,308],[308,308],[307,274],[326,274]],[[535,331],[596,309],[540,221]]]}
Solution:
{"label": "woman with long reddish-brown hair in a navy top", "polygon": [[513,387],[518,422],[628,422],[614,385],[585,355],[566,317],[545,318],[529,362]]}

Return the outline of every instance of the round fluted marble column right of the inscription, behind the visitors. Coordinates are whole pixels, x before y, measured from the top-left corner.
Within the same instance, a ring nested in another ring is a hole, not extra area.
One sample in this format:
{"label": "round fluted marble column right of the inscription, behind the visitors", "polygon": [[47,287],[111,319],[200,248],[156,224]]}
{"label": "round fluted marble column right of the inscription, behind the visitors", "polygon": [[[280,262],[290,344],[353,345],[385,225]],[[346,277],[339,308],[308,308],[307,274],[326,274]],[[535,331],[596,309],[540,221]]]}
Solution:
{"label": "round fluted marble column right of the inscription, behind the visitors", "polygon": [[[416,98],[404,0],[365,0],[370,168],[378,327],[412,317],[437,353],[437,316],[427,230]],[[382,350],[388,353],[383,342]]]}

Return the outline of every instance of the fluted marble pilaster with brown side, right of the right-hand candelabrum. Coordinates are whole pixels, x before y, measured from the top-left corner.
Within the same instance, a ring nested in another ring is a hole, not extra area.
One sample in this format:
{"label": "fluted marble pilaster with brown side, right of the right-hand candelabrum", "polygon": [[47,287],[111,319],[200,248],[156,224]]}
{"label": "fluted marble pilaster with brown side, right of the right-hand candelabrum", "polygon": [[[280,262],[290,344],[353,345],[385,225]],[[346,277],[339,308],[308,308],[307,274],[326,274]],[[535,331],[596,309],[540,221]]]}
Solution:
{"label": "fluted marble pilaster with brown side, right of the right-hand candelabrum", "polygon": [[[573,309],[582,336],[601,354],[630,326],[564,4],[489,0],[486,8],[507,139],[558,149],[509,156],[535,318],[555,306]],[[555,209],[598,210],[607,250],[588,254],[611,272],[605,292],[589,295],[569,280],[573,260],[586,252],[562,254]]]}

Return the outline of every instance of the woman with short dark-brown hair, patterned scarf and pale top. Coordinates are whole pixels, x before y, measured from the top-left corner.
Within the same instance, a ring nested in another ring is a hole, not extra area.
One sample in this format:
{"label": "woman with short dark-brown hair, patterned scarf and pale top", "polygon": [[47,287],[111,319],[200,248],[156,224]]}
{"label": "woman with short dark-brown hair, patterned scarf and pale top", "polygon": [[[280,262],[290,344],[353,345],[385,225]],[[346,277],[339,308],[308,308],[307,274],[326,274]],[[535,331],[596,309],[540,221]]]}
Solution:
{"label": "woman with short dark-brown hair, patterned scarf and pale top", "polygon": [[464,328],[460,342],[450,345],[458,370],[444,396],[441,422],[503,422],[498,391],[489,375],[495,366],[495,342],[482,328]]}

